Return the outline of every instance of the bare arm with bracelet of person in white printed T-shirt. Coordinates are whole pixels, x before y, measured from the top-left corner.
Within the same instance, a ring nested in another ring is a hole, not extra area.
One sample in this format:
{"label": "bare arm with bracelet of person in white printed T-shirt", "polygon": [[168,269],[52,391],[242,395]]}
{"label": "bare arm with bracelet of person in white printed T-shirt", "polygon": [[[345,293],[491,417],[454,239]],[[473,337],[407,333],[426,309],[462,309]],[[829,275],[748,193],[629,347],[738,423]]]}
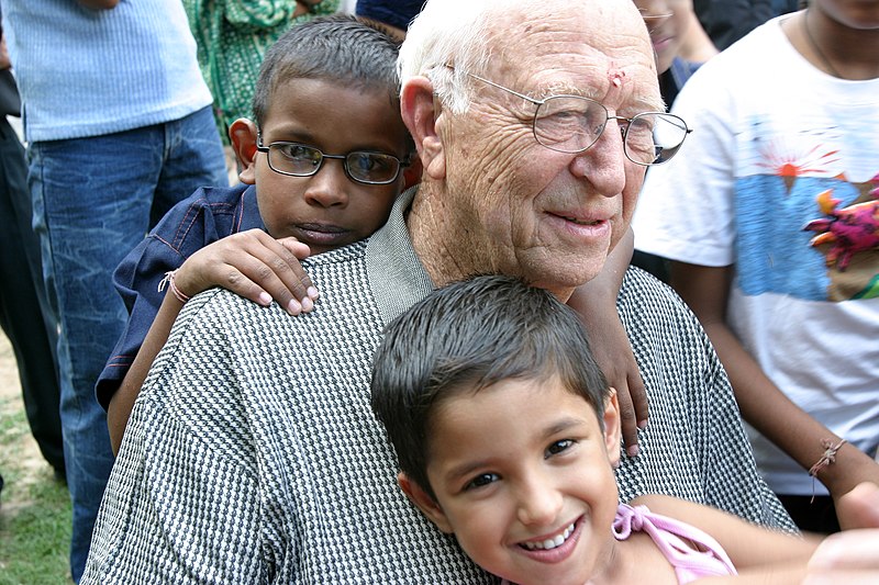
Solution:
{"label": "bare arm with bracelet of person in white printed T-shirt", "polygon": [[[823,439],[834,445],[839,437],[791,402],[763,372],[726,325],[726,301],[733,267],[702,267],[671,262],[671,285],[696,313],[711,338],[733,385],[742,416],[766,438],[793,458],[803,473],[824,453]],[[835,500],[861,482],[879,484],[879,464],[858,448],[844,445],[836,462],[825,465],[817,479]],[[839,520],[850,521],[845,509]]]}

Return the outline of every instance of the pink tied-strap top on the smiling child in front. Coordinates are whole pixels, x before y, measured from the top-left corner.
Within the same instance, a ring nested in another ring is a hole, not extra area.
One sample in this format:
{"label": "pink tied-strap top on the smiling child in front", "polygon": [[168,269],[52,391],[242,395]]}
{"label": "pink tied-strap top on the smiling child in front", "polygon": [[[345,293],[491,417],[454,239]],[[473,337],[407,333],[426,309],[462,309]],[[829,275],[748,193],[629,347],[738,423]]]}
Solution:
{"label": "pink tied-strap top on the smiling child in front", "polygon": [[654,514],[647,506],[620,504],[613,536],[616,540],[626,540],[632,532],[649,535],[675,567],[680,584],[700,577],[737,574],[720,543],[698,528]]}

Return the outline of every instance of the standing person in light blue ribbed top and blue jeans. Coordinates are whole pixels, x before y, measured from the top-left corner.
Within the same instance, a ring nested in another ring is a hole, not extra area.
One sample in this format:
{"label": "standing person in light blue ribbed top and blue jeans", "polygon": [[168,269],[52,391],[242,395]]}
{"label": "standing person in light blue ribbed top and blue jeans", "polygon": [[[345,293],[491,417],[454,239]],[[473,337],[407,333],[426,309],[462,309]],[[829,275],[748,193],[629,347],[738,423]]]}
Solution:
{"label": "standing person in light blue ribbed top and blue jeans", "polygon": [[71,574],[86,563],[113,453],[94,382],[125,323],[111,274],[177,201],[227,182],[211,95],[177,0],[9,0],[27,183],[59,324]]}

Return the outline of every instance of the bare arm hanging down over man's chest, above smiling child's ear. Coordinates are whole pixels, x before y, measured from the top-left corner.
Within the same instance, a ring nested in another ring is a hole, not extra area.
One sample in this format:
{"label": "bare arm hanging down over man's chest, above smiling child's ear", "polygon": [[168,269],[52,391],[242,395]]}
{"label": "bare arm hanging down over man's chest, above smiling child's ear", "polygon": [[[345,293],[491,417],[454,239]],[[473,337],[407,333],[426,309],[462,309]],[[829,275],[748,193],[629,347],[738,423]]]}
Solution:
{"label": "bare arm hanging down over man's chest, above smiling child's ear", "polygon": [[598,277],[579,286],[568,305],[577,311],[590,334],[591,349],[608,383],[616,389],[623,442],[630,457],[638,453],[638,427],[647,423],[647,393],[628,336],[616,313],[616,296],[632,260],[634,233],[630,227],[608,256]]}

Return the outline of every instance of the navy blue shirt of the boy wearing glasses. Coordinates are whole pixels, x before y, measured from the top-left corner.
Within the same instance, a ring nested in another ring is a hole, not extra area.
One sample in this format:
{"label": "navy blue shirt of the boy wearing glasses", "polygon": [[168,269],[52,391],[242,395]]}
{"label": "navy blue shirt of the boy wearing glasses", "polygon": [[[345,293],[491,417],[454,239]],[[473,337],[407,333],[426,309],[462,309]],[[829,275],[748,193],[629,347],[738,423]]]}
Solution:
{"label": "navy blue shirt of the boy wearing glasses", "polygon": [[175,205],[155,229],[134,248],[113,273],[113,284],[125,302],[129,323],[96,384],[104,409],[119,390],[165,297],[158,284],[165,273],[208,244],[237,232],[265,229],[256,204],[256,188],[199,189]]}

